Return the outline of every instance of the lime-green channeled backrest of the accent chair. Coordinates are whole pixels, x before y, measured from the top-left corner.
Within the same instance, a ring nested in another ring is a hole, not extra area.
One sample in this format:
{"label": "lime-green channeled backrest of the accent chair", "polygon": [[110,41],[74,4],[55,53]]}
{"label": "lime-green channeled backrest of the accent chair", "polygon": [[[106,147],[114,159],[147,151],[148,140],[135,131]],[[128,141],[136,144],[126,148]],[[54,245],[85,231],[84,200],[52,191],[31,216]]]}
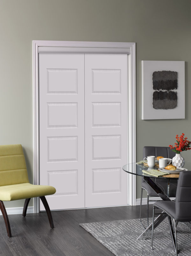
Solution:
{"label": "lime-green channeled backrest of the accent chair", "polygon": [[0,186],[27,182],[29,179],[22,146],[0,146]]}

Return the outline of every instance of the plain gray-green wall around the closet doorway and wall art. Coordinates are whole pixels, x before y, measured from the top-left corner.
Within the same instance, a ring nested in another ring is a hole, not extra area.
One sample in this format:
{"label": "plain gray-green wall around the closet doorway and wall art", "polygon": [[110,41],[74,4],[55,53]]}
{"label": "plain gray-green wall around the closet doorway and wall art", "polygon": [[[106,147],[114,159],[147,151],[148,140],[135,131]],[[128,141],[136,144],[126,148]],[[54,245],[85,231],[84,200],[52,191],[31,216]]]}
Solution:
{"label": "plain gray-green wall around the closet doorway and wall art", "polygon": [[[144,145],[168,146],[182,132],[191,139],[190,9],[190,0],[0,0],[0,144],[23,145],[31,182],[32,40],[136,42],[139,160]],[[141,120],[141,60],[186,61],[185,120]]]}

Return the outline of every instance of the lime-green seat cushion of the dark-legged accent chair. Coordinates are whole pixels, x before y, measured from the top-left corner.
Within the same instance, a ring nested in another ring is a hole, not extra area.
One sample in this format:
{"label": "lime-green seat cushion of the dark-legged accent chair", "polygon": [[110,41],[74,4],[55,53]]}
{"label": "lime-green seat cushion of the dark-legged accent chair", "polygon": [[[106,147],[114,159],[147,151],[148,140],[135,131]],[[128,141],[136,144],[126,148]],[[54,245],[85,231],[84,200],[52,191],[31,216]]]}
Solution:
{"label": "lime-green seat cushion of the dark-legged accent chair", "polygon": [[33,185],[30,183],[21,183],[0,187],[0,200],[13,201],[33,197],[52,195],[56,189],[52,186]]}

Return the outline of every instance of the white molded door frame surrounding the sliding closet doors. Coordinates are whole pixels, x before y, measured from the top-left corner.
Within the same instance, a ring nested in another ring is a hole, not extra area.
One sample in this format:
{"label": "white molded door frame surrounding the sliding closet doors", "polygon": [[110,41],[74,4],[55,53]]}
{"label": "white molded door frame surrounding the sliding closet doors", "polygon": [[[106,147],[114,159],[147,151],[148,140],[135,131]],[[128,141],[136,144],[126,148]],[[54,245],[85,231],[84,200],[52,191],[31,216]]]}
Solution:
{"label": "white molded door frame surrounding the sliding closet doors", "polygon": [[[52,48],[56,47],[56,48]],[[34,184],[39,185],[39,52],[83,52],[127,54],[128,58],[128,123],[129,146],[127,163],[136,161],[136,43],[78,42],[78,41],[32,41],[33,67],[33,166]],[[52,49],[51,49],[52,48]],[[134,170],[132,170],[134,171]],[[127,179],[127,204],[136,205],[136,177]],[[34,198],[34,213],[39,213],[39,198]]]}

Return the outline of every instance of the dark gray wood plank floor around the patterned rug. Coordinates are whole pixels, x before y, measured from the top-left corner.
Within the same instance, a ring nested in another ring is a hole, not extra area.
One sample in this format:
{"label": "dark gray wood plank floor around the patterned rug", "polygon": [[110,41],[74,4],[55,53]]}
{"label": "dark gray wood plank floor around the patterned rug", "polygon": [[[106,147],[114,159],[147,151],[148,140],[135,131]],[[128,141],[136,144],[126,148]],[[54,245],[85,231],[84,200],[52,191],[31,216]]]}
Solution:
{"label": "dark gray wood plank floor around the patterned rug", "polygon": [[[114,255],[79,223],[139,218],[140,206],[120,206],[81,210],[53,211],[54,229],[46,212],[9,215],[12,236],[7,236],[0,216],[0,255],[2,256],[109,256]],[[146,206],[143,206],[146,217]],[[149,211],[152,216],[152,206]]]}

